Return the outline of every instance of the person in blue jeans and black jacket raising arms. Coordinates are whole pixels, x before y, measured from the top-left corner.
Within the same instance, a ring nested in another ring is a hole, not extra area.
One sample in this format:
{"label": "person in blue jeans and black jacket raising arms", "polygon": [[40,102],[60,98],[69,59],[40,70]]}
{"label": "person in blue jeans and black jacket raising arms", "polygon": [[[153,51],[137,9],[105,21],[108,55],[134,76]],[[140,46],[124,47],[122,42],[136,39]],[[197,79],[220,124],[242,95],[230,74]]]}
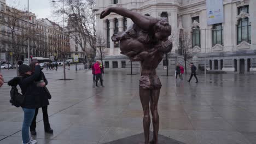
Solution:
{"label": "person in blue jeans and black jacket raising arms", "polygon": [[[21,93],[24,95],[25,99],[21,104],[22,110],[24,111],[24,120],[22,124],[22,143],[23,144],[34,144],[37,143],[30,137],[29,128],[32,123],[34,113],[36,108],[40,105],[39,93],[37,90],[37,84],[34,82],[40,77],[40,65],[35,64],[34,74],[31,72],[30,66],[26,64],[21,64],[19,67],[20,76],[14,77],[13,80],[8,82],[9,86],[16,87],[17,85],[21,88]],[[43,83],[40,84],[43,86]]]}

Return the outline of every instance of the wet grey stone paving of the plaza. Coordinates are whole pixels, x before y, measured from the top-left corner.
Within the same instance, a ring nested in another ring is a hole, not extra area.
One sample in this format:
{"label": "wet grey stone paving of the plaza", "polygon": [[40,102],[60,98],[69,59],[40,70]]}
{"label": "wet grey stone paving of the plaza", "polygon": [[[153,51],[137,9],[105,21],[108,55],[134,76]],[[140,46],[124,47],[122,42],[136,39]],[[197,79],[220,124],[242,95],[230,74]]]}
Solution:
{"label": "wet grey stone paving of the plaza", "polygon": [[[45,134],[39,110],[39,144],[134,143],[143,140],[139,75],[104,74],[104,88],[94,88],[90,70],[46,71],[52,94],[49,121],[54,134]],[[3,70],[10,79],[14,70]],[[161,74],[159,74],[161,75]],[[185,144],[256,143],[256,76],[198,75],[200,83],[160,76],[160,137]],[[184,76],[185,79],[189,75]],[[0,143],[21,143],[23,112],[9,103],[10,87],[0,88]],[[153,129],[152,129],[153,130]],[[132,138],[133,137],[133,138]],[[129,142],[128,142],[129,141]],[[159,144],[164,144],[162,141]]]}

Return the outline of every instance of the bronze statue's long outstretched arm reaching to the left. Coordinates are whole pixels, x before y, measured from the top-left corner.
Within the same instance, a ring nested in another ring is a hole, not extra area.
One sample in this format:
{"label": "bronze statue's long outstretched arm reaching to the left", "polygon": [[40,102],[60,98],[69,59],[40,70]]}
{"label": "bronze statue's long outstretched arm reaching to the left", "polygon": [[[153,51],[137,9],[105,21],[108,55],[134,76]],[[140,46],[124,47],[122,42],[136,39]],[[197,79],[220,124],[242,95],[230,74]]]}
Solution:
{"label": "bronze statue's long outstretched arm reaching to the left", "polygon": [[102,11],[100,18],[103,19],[112,12],[130,18],[139,28],[145,31],[150,30],[150,28],[152,28],[155,23],[158,22],[158,20],[153,17],[147,17],[142,14],[135,13],[129,9],[120,7],[110,7],[105,9]]}

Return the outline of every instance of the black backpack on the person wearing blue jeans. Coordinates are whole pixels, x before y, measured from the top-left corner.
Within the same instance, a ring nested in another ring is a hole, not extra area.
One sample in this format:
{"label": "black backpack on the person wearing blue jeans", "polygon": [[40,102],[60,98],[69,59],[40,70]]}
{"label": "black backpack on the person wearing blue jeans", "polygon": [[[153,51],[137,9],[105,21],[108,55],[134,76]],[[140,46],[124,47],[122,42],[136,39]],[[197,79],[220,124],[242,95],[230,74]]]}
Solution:
{"label": "black backpack on the person wearing blue jeans", "polygon": [[24,100],[25,100],[24,95],[20,94],[18,91],[18,88],[15,86],[11,87],[10,97],[11,97],[11,99],[10,99],[11,105],[14,105],[16,107],[20,107],[24,103]]}

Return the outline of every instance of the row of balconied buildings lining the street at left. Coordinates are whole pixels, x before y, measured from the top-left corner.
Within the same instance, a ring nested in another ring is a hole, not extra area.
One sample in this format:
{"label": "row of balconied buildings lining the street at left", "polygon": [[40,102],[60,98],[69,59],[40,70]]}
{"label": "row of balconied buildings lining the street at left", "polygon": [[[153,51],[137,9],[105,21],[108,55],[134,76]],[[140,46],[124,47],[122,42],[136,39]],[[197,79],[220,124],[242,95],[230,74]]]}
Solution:
{"label": "row of balconied buildings lining the street at left", "polygon": [[54,61],[69,57],[69,37],[66,33],[63,37],[62,27],[48,19],[37,19],[31,12],[9,7],[5,0],[0,0],[0,29],[2,62],[25,61],[28,50],[30,56],[54,57]]}

